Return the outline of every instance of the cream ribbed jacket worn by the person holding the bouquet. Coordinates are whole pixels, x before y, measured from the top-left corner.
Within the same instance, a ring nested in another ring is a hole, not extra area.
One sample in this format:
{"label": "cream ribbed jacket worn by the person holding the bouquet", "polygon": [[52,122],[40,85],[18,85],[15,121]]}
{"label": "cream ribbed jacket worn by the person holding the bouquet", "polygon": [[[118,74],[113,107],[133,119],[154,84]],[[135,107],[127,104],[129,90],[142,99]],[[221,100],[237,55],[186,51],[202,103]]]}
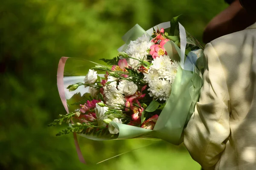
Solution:
{"label": "cream ribbed jacket worn by the person holding the bouquet", "polygon": [[204,170],[256,170],[256,23],[206,45],[184,144]]}

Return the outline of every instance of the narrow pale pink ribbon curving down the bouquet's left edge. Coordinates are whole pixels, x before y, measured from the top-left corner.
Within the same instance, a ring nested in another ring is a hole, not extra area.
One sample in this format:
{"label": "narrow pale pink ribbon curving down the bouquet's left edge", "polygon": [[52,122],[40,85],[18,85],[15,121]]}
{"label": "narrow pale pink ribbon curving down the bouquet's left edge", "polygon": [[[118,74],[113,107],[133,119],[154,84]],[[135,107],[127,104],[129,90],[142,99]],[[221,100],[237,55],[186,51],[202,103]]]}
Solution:
{"label": "narrow pale pink ribbon curving down the bouquet's left edge", "polygon": [[[64,67],[65,67],[65,63],[67,61],[69,57],[61,57],[59,64],[58,64],[58,71],[57,71],[57,87],[58,87],[58,92],[59,95],[61,97],[61,102],[65,108],[65,110],[67,111],[67,113],[69,113],[68,108],[67,108],[67,100],[65,97],[65,91],[64,91]],[[71,123],[73,124],[73,121],[71,121]],[[79,161],[83,164],[86,164],[83,154],[81,152],[81,149],[79,147],[79,143],[77,140],[77,136],[76,133],[73,133],[74,135],[74,141],[75,141],[75,146],[76,146],[76,152],[79,158]]]}

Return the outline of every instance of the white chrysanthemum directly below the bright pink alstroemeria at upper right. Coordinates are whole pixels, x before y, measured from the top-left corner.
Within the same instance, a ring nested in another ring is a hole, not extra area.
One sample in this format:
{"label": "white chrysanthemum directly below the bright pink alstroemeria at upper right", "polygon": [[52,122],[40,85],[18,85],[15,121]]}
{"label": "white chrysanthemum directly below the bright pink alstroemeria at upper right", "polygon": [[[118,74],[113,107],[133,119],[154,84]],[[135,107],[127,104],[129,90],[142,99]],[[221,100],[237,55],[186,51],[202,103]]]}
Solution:
{"label": "white chrysanthemum directly below the bright pink alstroemeria at upper right", "polygon": [[168,55],[163,55],[163,56],[157,57],[156,59],[153,59],[152,64],[153,65],[150,66],[150,69],[151,68],[156,69],[160,76],[159,78],[163,78],[164,77],[163,74],[166,71],[166,68],[169,65],[172,65],[172,61]]}

